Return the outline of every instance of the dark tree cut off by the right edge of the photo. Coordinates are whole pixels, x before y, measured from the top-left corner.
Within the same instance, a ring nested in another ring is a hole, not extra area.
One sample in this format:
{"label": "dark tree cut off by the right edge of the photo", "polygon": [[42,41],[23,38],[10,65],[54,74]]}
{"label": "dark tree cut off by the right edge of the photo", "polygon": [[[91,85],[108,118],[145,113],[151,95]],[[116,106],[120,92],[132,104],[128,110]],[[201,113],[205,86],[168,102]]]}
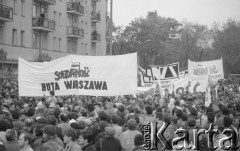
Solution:
{"label": "dark tree cut off by the right edge of the photo", "polygon": [[228,20],[222,29],[216,28],[213,48],[223,57],[225,72],[240,73],[240,22]]}

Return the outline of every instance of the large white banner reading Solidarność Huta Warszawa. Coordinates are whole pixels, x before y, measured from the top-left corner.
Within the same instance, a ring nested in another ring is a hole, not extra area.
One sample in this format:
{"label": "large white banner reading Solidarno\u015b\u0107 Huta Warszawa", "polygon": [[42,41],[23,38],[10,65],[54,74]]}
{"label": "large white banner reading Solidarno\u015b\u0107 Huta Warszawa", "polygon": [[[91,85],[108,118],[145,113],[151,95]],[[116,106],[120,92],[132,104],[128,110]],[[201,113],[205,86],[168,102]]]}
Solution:
{"label": "large white banner reading Solidarno\u015b\u0107 Huta Warszawa", "polygon": [[137,53],[119,56],[69,55],[50,62],[19,58],[19,96],[137,93]]}

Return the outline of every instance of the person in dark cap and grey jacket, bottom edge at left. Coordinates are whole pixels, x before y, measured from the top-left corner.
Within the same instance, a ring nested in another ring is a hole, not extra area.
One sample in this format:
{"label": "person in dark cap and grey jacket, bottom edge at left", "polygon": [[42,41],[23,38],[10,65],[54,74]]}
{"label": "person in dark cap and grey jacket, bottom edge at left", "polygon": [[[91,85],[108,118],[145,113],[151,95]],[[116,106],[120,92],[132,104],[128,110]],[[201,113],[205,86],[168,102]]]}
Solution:
{"label": "person in dark cap and grey jacket, bottom edge at left", "polygon": [[43,128],[43,138],[41,151],[57,151],[64,148],[62,140],[56,136],[56,128],[53,125],[46,125]]}

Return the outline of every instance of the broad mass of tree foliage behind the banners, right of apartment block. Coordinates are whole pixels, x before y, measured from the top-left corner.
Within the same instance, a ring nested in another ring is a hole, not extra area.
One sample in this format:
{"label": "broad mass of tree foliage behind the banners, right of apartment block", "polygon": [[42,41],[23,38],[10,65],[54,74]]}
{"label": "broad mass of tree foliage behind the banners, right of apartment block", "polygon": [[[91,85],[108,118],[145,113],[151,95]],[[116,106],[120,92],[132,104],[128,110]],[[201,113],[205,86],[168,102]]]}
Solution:
{"label": "broad mass of tree foliage behind the banners, right of apartment block", "polygon": [[161,17],[156,11],[135,19],[125,28],[115,29],[114,54],[138,52],[142,67],[180,62],[185,70],[188,59],[202,61],[214,57],[212,30],[186,20]]}

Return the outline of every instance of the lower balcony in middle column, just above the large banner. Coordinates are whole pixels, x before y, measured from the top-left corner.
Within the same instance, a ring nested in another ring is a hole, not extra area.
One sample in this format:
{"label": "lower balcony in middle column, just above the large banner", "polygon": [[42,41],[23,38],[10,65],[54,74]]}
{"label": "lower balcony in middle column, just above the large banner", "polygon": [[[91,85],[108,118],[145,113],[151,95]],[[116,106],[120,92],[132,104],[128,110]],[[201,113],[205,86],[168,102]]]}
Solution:
{"label": "lower balcony in middle column, just above the large banner", "polygon": [[68,26],[67,27],[68,38],[84,38],[84,29]]}

